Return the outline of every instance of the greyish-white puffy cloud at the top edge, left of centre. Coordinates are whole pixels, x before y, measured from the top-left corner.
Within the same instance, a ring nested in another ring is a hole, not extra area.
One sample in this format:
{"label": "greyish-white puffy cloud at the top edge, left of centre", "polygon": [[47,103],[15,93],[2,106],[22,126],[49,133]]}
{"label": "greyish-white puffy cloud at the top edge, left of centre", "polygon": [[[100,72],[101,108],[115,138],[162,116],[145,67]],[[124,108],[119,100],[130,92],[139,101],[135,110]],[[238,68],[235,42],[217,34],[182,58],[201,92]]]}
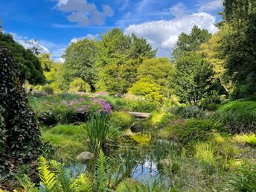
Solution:
{"label": "greyish-white puffy cloud at the top edge, left of centre", "polygon": [[86,0],[59,0],[57,9],[69,13],[67,19],[81,26],[103,25],[107,16],[114,15],[109,5],[102,4],[103,11],[97,10],[95,4]]}

